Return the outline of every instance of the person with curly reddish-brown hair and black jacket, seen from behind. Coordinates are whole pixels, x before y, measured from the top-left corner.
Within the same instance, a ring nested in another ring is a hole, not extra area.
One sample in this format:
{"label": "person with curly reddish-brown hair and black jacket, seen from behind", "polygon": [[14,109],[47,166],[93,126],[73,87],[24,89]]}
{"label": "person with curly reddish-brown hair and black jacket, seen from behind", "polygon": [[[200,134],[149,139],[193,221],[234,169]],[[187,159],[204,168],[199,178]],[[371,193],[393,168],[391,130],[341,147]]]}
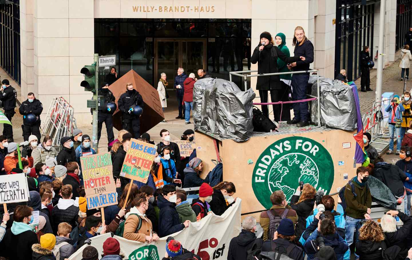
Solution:
{"label": "person with curly reddish-brown hair and black jacket, seen from behind", "polygon": [[382,251],[386,249],[385,236],[378,223],[368,220],[359,229],[356,252],[359,260],[382,260]]}

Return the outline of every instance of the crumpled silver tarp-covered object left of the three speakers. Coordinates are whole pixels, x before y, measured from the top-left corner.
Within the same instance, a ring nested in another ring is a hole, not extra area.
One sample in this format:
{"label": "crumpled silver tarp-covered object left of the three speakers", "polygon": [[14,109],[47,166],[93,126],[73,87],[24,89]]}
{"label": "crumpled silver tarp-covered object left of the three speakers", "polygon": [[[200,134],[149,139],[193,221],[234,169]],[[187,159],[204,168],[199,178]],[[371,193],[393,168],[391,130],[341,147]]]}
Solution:
{"label": "crumpled silver tarp-covered object left of the three speakers", "polygon": [[193,88],[194,129],[245,142],[253,133],[255,96],[253,90],[241,91],[235,83],[220,78],[197,80]]}

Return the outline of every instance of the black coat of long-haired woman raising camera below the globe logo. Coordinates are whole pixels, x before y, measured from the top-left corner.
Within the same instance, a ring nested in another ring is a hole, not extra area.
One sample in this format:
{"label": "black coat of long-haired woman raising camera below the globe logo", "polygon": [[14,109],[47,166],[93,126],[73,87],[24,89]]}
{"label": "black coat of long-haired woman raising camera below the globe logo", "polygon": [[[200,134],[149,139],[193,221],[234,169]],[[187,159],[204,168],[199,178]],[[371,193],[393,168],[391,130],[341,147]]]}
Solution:
{"label": "black coat of long-haired woman raising camera below the globe logo", "polygon": [[[315,199],[306,199],[297,203],[299,196],[293,195],[290,199],[290,208],[296,211],[297,223],[295,228],[295,236],[300,237],[306,229],[306,218],[309,217],[315,205]],[[295,204],[297,203],[297,204]]]}

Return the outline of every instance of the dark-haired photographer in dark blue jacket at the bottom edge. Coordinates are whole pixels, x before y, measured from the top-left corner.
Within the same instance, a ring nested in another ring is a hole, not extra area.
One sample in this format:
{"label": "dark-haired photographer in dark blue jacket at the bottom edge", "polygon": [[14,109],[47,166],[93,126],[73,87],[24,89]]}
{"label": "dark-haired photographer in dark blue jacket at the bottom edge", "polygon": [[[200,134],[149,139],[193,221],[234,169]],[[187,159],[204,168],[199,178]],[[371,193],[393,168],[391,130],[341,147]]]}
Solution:
{"label": "dark-haired photographer in dark blue jacket at the bottom edge", "polygon": [[337,260],[343,260],[343,255],[348,251],[348,244],[342,239],[335,229],[335,224],[324,219],[318,222],[318,228],[309,236],[303,245],[304,251],[307,253],[307,259],[311,260],[323,246],[330,246],[336,253]]}

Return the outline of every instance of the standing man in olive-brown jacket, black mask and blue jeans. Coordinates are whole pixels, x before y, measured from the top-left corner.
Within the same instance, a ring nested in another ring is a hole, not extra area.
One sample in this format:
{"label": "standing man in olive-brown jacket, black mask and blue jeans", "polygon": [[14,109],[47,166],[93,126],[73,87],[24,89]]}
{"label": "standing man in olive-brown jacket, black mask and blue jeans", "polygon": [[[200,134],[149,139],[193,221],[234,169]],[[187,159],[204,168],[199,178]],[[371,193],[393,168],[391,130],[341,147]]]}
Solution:
{"label": "standing man in olive-brown jacket, black mask and blue jeans", "polygon": [[[351,183],[346,184],[344,196],[346,201],[345,237],[348,245],[353,243],[353,234],[358,233],[361,222],[370,220],[370,208],[372,207],[372,196],[366,184],[368,182],[369,171],[361,166],[356,169],[356,177]],[[354,193],[352,192],[354,186]],[[355,256],[357,257],[356,253]]]}

